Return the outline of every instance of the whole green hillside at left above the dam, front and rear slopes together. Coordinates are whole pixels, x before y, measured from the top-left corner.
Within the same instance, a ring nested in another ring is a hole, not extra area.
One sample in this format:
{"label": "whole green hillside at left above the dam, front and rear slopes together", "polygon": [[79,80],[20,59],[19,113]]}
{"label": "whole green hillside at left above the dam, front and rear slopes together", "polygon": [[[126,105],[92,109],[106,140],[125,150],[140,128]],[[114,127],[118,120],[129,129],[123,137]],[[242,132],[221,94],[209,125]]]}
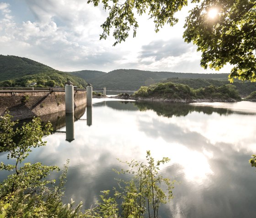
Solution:
{"label": "whole green hillside at left above the dam, front and rear slopes together", "polygon": [[25,57],[0,55],[0,86],[28,86],[36,82],[35,87],[62,87],[68,80],[78,87],[87,84],[78,76],[57,71]]}

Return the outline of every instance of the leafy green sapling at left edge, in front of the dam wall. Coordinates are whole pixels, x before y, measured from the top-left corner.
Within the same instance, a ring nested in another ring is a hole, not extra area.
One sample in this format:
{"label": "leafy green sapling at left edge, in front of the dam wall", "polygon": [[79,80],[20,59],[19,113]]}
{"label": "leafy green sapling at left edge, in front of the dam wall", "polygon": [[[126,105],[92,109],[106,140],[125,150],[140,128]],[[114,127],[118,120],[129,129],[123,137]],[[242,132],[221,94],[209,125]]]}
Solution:
{"label": "leafy green sapling at left edge, in front of the dam wall", "polygon": [[[0,117],[0,152],[8,152],[7,158],[14,158],[14,165],[6,165],[0,163],[0,170],[15,171],[11,174],[4,184],[0,185],[2,193],[15,192],[17,189],[30,189],[44,186],[47,183],[52,183],[47,180],[40,179],[47,176],[50,171],[58,169],[57,167],[43,166],[41,163],[25,163],[24,166],[18,165],[28,156],[32,147],[44,146],[46,142],[42,140],[44,135],[49,135],[52,130],[51,124],[48,123],[45,127],[41,126],[39,118],[34,118],[32,122],[24,123],[22,127],[16,127],[17,121],[11,121],[11,115],[8,113]],[[1,197],[1,196],[0,196]]]}

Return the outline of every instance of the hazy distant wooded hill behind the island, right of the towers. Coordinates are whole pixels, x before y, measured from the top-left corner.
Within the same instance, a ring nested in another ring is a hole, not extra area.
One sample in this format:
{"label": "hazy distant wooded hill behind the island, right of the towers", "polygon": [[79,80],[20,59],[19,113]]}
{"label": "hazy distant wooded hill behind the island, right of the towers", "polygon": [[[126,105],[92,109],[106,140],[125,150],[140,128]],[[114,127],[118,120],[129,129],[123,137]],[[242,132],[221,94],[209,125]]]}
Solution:
{"label": "hazy distant wooded hill behind the island, right of the towers", "polygon": [[[140,86],[149,86],[167,78],[178,77],[187,79],[214,79],[227,80],[228,73],[176,73],[140,70],[114,70],[102,76],[91,78],[90,82],[95,89],[107,87],[110,90],[138,90]],[[78,75],[77,75],[78,76]]]}

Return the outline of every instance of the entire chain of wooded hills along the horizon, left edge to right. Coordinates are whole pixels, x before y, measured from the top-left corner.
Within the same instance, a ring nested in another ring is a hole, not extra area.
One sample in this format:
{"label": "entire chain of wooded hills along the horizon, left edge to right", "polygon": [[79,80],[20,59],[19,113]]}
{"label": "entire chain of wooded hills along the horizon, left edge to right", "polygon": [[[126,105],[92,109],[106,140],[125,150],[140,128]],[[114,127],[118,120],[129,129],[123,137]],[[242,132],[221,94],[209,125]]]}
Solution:
{"label": "entire chain of wooded hills along the horizon, left edge to right", "polygon": [[118,69],[108,73],[90,70],[62,72],[25,57],[0,55],[0,81],[5,81],[2,85],[8,86],[24,86],[26,80],[41,80],[41,83],[45,80],[55,80],[56,84],[63,85],[64,80],[70,79],[81,86],[85,86],[86,82],[91,83],[94,89],[106,87],[107,90],[135,91],[140,86],[149,86],[168,78],[227,81],[228,73],[176,73],[135,69]]}

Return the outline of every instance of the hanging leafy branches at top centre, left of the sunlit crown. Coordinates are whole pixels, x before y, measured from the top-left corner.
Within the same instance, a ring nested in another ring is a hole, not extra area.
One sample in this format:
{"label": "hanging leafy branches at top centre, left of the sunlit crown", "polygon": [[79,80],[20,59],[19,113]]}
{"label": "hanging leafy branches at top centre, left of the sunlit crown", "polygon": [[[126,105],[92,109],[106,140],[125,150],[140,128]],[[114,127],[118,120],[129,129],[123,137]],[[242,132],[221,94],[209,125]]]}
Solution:
{"label": "hanging leafy branches at top centre, left of the sunlit crown", "polygon": [[87,3],[92,2],[94,6],[98,6],[100,2],[103,3],[103,9],[108,10],[107,20],[101,25],[103,33],[100,39],[107,39],[110,30],[113,27],[113,36],[116,40],[113,46],[117,43],[125,41],[129,36],[129,31],[133,29],[133,37],[136,36],[136,30],[139,27],[134,11],[139,15],[148,13],[149,18],[154,19],[155,31],[165,23],[174,25],[178,19],[174,14],[181,10],[182,6],[187,5],[187,0],[173,0],[173,1],[152,1],[152,0],[134,0],[134,1],[119,1],[119,0],[88,0]]}

